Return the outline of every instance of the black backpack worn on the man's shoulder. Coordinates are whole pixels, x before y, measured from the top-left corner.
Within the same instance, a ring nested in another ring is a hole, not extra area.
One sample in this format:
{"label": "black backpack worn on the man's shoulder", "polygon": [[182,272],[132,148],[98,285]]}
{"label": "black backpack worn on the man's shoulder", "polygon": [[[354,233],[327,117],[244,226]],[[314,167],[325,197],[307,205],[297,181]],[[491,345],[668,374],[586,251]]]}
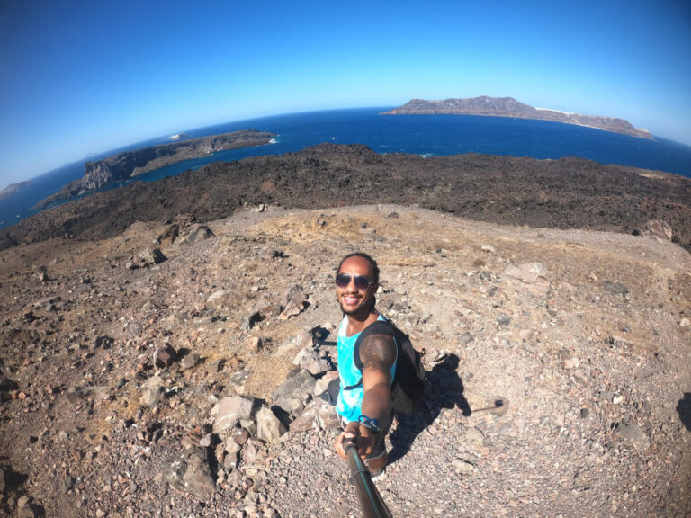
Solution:
{"label": "black backpack worn on the man's shoulder", "polygon": [[410,343],[410,337],[387,320],[377,320],[363,329],[355,341],[353,356],[355,366],[362,372],[360,360],[360,343],[368,335],[392,336],[398,349],[396,374],[391,384],[391,405],[396,412],[413,414],[417,411],[425,395],[425,366],[422,364],[422,353],[416,351]]}

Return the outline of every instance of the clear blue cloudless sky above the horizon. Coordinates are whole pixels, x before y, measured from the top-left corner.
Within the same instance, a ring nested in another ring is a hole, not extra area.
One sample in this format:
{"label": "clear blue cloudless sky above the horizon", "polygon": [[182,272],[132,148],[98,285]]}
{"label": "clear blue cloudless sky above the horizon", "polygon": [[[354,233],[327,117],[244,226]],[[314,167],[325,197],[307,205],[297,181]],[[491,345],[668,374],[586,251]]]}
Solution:
{"label": "clear blue cloudless sky above the horizon", "polygon": [[0,2],[0,188],[211,124],[511,96],[691,144],[691,3]]}

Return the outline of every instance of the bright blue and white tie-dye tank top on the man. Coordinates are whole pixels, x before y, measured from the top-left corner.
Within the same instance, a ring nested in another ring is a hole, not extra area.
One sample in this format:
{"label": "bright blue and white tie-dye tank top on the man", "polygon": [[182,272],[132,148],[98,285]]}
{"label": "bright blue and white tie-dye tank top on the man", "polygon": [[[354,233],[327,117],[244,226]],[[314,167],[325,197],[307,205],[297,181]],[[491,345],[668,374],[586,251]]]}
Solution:
{"label": "bright blue and white tie-dye tank top on the man", "polygon": [[[377,320],[386,320],[383,315],[379,315]],[[346,421],[357,421],[360,418],[361,406],[363,405],[363,373],[357,368],[354,360],[354,348],[357,337],[360,333],[353,336],[346,335],[348,328],[348,317],[343,317],[341,326],[338,328],[337,352],[338,352],[338,376],[340,378],[340,388],[336,402],[336,411],[342,415]],[[396,350],[398,354],[398,348]],[[398,360],[398,358],[397,358]],[[396,362],[391,366],[391,383],[396,375]]]}

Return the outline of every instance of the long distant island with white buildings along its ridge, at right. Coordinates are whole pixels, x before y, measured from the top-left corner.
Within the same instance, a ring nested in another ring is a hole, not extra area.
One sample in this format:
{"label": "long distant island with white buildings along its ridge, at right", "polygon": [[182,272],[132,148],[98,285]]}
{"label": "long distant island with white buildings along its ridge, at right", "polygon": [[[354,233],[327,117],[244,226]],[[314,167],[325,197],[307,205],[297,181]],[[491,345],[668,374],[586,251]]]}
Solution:
{"label": "long distant island with white buildings along its ridge, at right", "polygon": [[629,121],[614,117],[597,117],[579,113],[559,112],[546,108],[534,108],[519,103],[513,97],[472,97],[470,99],[445,99],[444,101],[425,101],[413,99],[399,108],[394,108],[381,115],[481,115],[487,117],[512,117],[515,119],[536,119],[540,121],[563,122],[588,128],[604,129],[637,138],[654,140],[645,129],[634,128]]}

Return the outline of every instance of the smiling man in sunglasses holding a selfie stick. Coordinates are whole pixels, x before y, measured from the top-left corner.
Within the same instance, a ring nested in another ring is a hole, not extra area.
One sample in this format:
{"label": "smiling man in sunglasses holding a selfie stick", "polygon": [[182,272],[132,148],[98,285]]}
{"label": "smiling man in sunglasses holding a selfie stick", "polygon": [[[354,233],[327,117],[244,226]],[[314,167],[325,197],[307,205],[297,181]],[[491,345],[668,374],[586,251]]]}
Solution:
{"label": "smiling man in sunglasses holding a selfie stick", "polygon": [[385,319],[374,308],[379,267],[369,255],[346,255],[338,265],[336,286],[344,313],[337,339],[340,390],[336,409],[344,432],[338,435],[335,447],[345,459],[344,440],[353,440],[376,479],[383,474],[388,460],[384,438],[393,419],[391,382],[396,373],[397,349],[390,335],[366,336],[359,350],[361,371],[355,365],[354,344],[367,326]]}

